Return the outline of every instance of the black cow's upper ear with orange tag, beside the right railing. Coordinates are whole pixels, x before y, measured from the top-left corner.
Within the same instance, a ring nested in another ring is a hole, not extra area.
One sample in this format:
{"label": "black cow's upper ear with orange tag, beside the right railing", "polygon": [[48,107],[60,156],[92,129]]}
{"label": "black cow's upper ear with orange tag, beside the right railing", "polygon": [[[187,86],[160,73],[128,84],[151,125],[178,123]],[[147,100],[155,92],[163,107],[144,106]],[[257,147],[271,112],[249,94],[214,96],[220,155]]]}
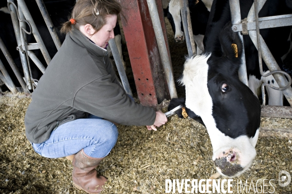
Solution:
{"label": "black cow's upper ear with orange tag, beside the right railing", "polygon": [[219,35],[222,49],[222,57],[228,58],[232,62],[240,62],[242,54],[242,42],[237,32],[233,32],[232,23],[228,22]]}

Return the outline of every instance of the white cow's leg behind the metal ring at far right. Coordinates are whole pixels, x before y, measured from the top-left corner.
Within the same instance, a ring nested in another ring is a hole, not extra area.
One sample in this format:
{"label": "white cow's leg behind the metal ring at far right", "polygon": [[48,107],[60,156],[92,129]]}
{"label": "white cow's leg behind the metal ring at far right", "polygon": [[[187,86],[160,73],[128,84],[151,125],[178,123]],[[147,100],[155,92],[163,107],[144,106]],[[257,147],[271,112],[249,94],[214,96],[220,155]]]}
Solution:
{"label": "white cow's leg behind the metal ring at far right", "polygon": [[[270,71],[267,71],[264,73],[268,73],[268,72]],[[272,86],[279,88],[279,85],[277,84],[273,75],[269,75],[268,77],[262,77],[261,80],[265,84],[271,84]],[[266,87],[266,90],[269,97],[268,105],[283,106],[283,93],[281,90],[275,90],[270,87]]]}

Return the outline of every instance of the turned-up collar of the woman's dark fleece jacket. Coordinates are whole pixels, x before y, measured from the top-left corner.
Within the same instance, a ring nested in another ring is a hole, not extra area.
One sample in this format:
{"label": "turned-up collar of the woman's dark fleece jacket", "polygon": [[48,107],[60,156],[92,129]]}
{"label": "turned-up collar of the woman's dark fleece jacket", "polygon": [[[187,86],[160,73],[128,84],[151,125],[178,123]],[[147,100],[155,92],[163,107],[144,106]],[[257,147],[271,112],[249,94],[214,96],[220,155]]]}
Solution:
{"label": "turned-up collar of the woman's dark fleece jacket", "polygon": [[70,33],[68,33],[72,40],[76,42],[79,46],[86,48],[91,54],[96,56],[105,56],[107,55],[107,50],[97,46],[91,42],[85,35],[83,35],[79,30],[72,27]]}

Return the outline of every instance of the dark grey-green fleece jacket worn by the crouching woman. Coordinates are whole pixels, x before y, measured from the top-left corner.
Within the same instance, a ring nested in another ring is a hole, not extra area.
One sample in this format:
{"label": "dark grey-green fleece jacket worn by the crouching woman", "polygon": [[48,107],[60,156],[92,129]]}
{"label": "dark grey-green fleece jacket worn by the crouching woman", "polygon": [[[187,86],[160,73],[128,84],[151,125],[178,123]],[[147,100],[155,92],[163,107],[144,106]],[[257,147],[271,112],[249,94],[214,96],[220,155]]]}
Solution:
{"label": "dark grey-green fleece jacket worn by the crouching woman", "polygon": [[[29,141],[49,139],[53,129],[85,113],[124,125],[152,125],[156,112],[132,101],[117,81],[106,50],[73,28],[39,79],[25,114]],[[82,131],[80,131],[82,133]]]}

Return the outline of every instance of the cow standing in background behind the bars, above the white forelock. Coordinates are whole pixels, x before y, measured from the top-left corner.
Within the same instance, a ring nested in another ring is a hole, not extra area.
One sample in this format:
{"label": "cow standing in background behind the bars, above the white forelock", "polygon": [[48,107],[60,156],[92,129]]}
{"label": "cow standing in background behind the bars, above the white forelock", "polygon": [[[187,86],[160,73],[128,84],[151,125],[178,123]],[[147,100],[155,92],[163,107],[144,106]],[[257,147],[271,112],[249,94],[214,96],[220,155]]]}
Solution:
{"label": "cow standing in background behind the bars, above the white forelock", "polygon": [[[212,1],[213,0],[189,0],[190,16],[193,35],[197,46],[197,54],[204,51],[203,38],[205,35]],[[175,42],[183,42],[185,40],[185,36],[183,33],[179,0],[171,0],[169,2],[167,18],[169,19],[175,33]]]}

